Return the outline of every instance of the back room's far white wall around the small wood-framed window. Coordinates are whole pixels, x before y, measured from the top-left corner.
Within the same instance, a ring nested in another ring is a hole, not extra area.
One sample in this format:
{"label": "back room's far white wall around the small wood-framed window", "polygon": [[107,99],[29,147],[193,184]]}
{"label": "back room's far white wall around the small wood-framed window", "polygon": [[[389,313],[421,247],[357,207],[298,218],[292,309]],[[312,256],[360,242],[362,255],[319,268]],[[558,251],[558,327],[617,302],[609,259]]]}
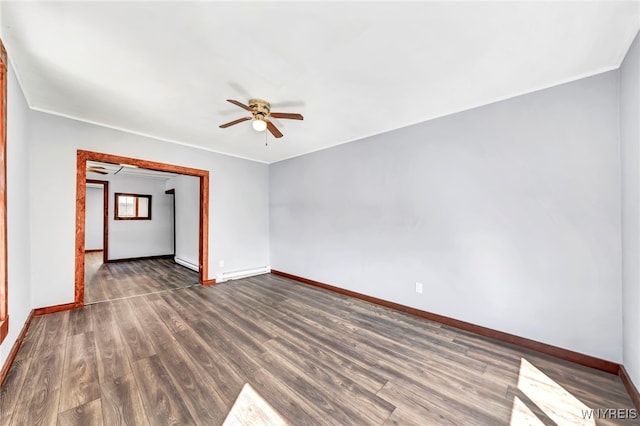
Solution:
{"label": "back room's far white wall around the small wood-framed window", "polygon": [[[109,179],[109,260],[173,254],[173,199],[165,181],[131,176]],[[115,220],[115,193],[151,195],[151,220]]]}

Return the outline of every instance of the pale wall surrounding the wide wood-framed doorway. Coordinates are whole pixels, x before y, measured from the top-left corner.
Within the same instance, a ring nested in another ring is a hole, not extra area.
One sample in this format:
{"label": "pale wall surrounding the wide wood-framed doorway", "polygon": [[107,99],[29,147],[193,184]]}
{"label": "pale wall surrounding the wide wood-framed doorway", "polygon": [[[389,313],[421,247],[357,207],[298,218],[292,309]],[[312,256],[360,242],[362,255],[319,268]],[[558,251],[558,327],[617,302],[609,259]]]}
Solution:
{"label": "pale wall surrounding the wide wood-framed doorway", "polygon": [[218,259],[236,269],[269,264],[267,165],[39,112],[29,124],[30,200],[55,206],[29,218],[33,305],[73,301],[78,149],[209,170],[209,277]]}

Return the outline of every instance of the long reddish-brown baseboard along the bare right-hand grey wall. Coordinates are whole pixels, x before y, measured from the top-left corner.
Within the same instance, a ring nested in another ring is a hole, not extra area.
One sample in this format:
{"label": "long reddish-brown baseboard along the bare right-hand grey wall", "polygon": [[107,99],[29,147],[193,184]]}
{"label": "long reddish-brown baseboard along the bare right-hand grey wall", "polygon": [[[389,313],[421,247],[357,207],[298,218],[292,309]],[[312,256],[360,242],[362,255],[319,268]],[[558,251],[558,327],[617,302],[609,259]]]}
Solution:
{"label": "long reddish-brown baseboard along the bare right-hand grey wall", "polygon": [[538,342],[535,340],[526,339],[524,337],[516,336],[513,334],[505,333],[491,328],[482,327],[480,325],[472,324],[465,321],[460,321],[455,318],[449,318],[443,315],[434,314],[431,312],[422,311],[420,309],[411,308],[409,306],[401,305],[399,303],[389,302],[388,300],[378,299],[377,297],[367,296],[366,294],[356,293],[355,291],[345,290],[340,287],[334,287],[329,284],[324,284],[318,281],[310,280],[307,278],[299,277],[297,275],[288,274],[286,272],[271,270],[274,275],[280,275],[285,278],[290,278],[295,281],[300,281],[305,284],[313,285],[316,287],[324,288],[326,290],[334,291],[336,293],[344,294],[346,296],[355,297],[376,305],[385,306],[387,308],[395,309],[397,311],[406,312],[421,318],[425,318],[431,321],[436,321],[441,324],[445,324],[451,327],[459,328],[464,331],[470,331],[480,336],[490,337],[502,342],[511,343],[526,349],[532,349],[534,351],[542,352],[547,355],[554,356],[556,358],[564,359],[566,361],[575,362],[576,364],[584,365],[587,367],[595,368],[597,370],[606,371],[611,374],[618,374],[620,364],[607,361],[604,359],[596,358],[591,355],[581,354],[579,352],[570,351],[557,346],[548,345],[546,343]]}

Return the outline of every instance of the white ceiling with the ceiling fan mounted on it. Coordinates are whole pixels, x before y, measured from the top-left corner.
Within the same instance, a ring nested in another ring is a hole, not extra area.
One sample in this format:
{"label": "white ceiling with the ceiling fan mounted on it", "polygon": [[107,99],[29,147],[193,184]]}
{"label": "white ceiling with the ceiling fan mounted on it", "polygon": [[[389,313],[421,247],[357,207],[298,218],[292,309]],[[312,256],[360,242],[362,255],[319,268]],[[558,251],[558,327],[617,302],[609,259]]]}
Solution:
{"label": "white ceiling with the ceiling fan mounted on it", "polygon": [[[29,105],[271,163],[617,68],[640,2],[0,2]],[[304,121],[257,133],[227,103]]]}

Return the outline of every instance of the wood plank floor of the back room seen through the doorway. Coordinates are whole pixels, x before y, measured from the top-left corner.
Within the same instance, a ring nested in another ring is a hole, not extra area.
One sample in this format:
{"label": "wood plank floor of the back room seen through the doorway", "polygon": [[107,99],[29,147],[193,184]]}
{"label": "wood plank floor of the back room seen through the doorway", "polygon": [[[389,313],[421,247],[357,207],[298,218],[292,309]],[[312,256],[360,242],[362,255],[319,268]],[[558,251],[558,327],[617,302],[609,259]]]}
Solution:
{"label": "wood plank floor of the back room seen through the doorway", "polygon": [[198,273],[172,259],[140,259],[102,263],[102,252],[85,255],[84,303],[188,287],[198,284]]}

